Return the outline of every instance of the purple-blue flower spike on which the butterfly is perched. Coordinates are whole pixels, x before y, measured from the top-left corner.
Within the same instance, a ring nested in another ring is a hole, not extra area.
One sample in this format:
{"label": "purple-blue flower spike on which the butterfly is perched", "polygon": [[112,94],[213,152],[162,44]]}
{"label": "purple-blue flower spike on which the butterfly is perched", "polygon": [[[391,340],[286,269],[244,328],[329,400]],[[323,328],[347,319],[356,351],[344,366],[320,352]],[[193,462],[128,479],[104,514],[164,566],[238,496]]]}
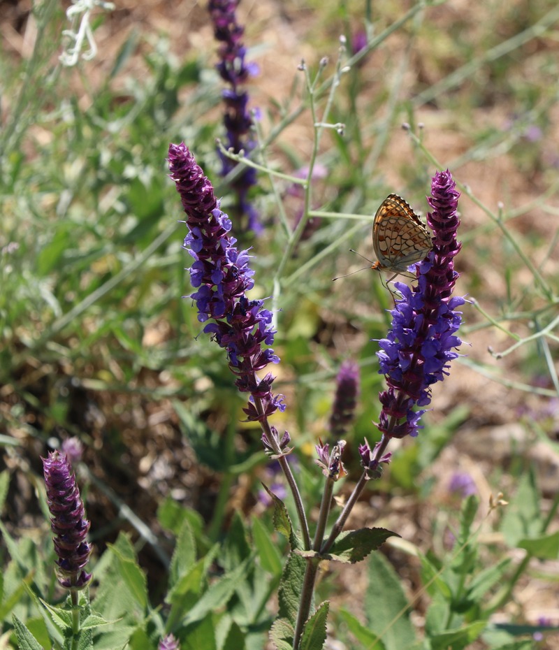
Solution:
{"label": "purple-blue flower spike on which the butterfly is perched", "polygon": [[431,386],[448,375],[453,350],[461,343],[455,335],[464,298],[451,298],[458,273],[454,256],[461,244],[456,240],[458,196],[451,173],[437,172],[427,199],[433,212],[427,222],[433,230],[433,250],[417,266],[417,286],[410,289],[395,282],[402,298],[391,311],[392,328],[379,342],[379,373],[386,375],[389,388],[379,394],[382,412],[379,430],[387,438],[417,435],[419,420],[431,400]]}

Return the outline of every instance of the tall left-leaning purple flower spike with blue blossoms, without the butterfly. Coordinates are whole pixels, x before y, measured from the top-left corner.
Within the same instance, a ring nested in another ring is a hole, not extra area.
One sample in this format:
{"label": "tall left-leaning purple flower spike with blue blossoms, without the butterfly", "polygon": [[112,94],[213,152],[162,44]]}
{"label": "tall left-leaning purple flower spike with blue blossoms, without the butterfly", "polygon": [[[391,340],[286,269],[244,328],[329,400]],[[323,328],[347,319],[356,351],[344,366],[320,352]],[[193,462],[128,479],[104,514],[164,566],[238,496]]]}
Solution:
{"label": "tall left-leaning purple flower spike with blue blossoms, without the butterfly", "polygon": [[272,312],[263,308],[264,301],[245,296],[254,285],[248,251],[235,248],[237,240],[228,234],[231,221],[219,210],[210,181],[184,143],[169,146],[169,169],[187,214],[184,248],[194,259],[189,270],[197,291],[190,297],[196,301],[198,320],[210,321],[203,331],[226,349],[235,386],[251,394],[245,408],[248,419],[261,421],[285,410],[283,396],[272,393],[275,377],[256,375],[268,363],[279,362],[273,349],[263,348],[274,342]]}

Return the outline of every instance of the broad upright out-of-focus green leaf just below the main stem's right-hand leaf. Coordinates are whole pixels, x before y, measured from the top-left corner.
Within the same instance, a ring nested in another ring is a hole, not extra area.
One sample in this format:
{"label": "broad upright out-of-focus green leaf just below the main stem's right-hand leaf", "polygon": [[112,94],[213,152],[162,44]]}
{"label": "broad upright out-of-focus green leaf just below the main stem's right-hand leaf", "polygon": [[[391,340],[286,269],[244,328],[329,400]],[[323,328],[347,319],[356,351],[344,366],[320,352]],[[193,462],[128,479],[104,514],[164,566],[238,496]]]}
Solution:
{"label": "broad upright out-of-focus green leaf just below the main stem's right-hand leaf", "polygon": [[369,558],[365,616],[370,630],[382,638],[386,650],[402,650],[416,641],[400,578],[382,553]]}

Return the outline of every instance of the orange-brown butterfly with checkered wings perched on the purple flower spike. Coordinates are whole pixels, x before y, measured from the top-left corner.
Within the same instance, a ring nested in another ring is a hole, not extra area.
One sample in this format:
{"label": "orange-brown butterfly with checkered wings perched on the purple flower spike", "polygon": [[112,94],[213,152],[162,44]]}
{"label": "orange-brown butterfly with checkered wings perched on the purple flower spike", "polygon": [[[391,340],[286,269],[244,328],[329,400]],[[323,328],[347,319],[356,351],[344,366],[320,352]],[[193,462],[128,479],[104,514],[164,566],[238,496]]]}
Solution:
{"label": "orange-brown butterfly with checkered wings perched on the purple flower spike", "polygon": [[373,270],[409,275],[407,267],[427,257],[433,242],[426,226],[409,203],[398,194],[389,194],[379,206],[372,224],[372,247],[377,261]]}

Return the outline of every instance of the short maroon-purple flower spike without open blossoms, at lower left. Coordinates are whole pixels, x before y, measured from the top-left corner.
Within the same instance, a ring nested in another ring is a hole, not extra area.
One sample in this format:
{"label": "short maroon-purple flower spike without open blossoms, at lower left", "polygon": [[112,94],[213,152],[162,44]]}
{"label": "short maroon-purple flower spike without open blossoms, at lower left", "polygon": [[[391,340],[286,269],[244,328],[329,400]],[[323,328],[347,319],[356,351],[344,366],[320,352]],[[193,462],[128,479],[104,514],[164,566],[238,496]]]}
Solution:
{"label": "short maroon-purple flower spike without open blossoms, at lower left", "polygon": [[85,539],[90,523],[85,519],[80,489],[65,455],[50,452],[42,461],[58,579],[66,589],[81,589],[92,578],[83,570],[92,547]]}

